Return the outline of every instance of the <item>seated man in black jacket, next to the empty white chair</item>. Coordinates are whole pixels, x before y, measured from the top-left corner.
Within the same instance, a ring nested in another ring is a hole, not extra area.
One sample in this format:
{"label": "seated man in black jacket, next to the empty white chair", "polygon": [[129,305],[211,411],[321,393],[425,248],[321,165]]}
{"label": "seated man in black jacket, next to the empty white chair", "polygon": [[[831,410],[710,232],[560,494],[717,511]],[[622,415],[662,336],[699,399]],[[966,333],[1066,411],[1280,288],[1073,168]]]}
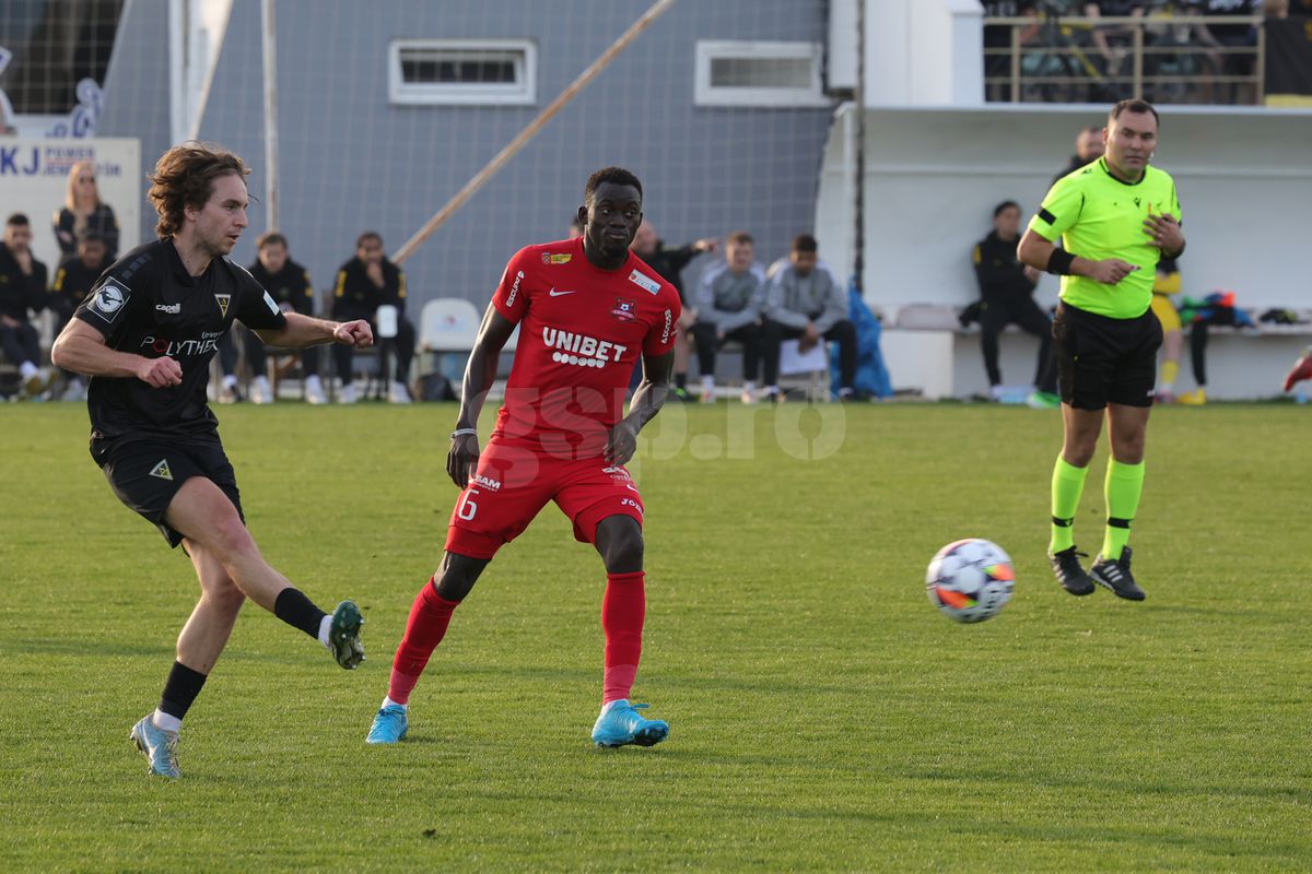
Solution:
{"label": "seated man in black jacket, next to the empty white chair", "polygon": [[[337,284],[333,290],[332,317],[338,321],[365,318],[378,334],[378,308],[390,304],[396,308],[396,373],[387,398],[392,404],[409,404],[409,366],[415,358],[415,325],[405,318],[405,274],[383,253],[383,238],[374,231],[366,231],[356,240],[356,257],[337,270]],[[379,371],[386,370],[387,343],[379,337]],[[341,377],[342,404],[357,400],[353,384],[353,346],[333,346],[337,362],[337,376]]]}

